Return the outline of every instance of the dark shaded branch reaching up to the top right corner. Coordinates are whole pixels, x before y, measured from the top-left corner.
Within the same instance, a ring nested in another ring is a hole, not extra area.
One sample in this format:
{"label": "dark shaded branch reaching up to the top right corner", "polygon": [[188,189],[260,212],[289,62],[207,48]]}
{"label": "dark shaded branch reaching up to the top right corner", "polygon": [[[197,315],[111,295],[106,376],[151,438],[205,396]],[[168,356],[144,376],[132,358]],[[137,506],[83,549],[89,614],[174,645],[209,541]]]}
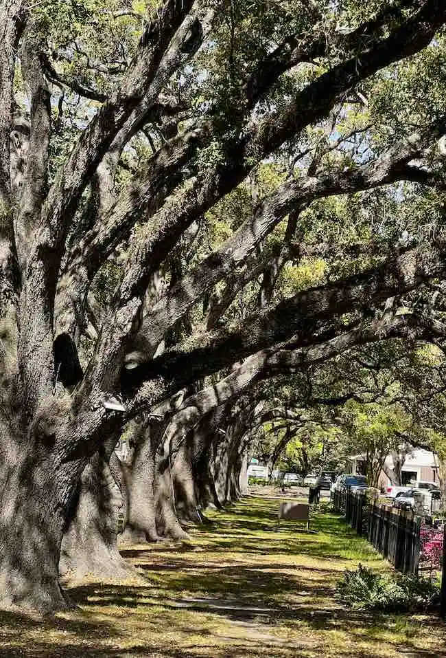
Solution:
{"label": "dark shaded branch reaching up to the top right corner", "polygon": [[[141,245],[138,246],[134,258],[138,261],[141,281],[135,282],[137,277],[134,277],[130,287],[130,282],[127,281],[122,291],[124,297],[128,297],[130,288],[143,285],[143,276],[150,275],[147,267],[149,262],[150,267],[159,267],[158,254],[165,254],[193,219],[202,215],[215,201],[242,181],[252,168],[253,160],[257,162],[308,124],[324,118],[343,91],[347,91],[378,69],[427,45],[445,19],[446,9],[440,8],[435,0],[425,1],[421,10],[401,28],[373,43],[364,52],[322,74],[314,83],[298,92],[296,98],[279,115],[268,116],[258,124],[253,122],[242,142],[235,144],[228,153],[226,164],[209,172],[204,179],[197,179],[187,194],[189,201],[183,201],[178,216],[172,217],[172,212],[168,212],[165,220],[159,221],[159,232],[150,236],[142,260]],[[134,270],[134,266],[129,269]]]}

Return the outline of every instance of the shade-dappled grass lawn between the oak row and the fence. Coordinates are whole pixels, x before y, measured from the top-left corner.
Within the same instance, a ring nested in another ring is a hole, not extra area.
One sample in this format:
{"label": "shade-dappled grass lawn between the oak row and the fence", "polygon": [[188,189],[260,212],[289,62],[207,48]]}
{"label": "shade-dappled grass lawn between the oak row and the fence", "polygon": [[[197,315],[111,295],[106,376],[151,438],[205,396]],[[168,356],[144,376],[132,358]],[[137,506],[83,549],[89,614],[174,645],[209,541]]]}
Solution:
{"label": "shade-dappled grass lawn between the oak row and the fence", "polygon": [[346,567],[388,563],[332,514],[277,530],[278,505],[248,497],[190,541],[123,551],[140,580],[71,584],[79,609],[56,619],[0,612],[0,657],[446,658],[434,617],[340,606]]}

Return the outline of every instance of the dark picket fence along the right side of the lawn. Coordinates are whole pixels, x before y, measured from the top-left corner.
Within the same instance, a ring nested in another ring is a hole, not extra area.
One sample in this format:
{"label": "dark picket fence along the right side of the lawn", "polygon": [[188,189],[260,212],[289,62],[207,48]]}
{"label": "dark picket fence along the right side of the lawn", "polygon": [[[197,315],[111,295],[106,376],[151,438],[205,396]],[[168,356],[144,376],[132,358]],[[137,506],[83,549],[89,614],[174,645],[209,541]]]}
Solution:
{"label": "dark picket fence along the right side of the lawn", "polygon": [[360,492],[335,491],[333,505],[357,534],[366,534],[395,569],[418,573],[421,516],[406,509],[368,503],[366,495]]}

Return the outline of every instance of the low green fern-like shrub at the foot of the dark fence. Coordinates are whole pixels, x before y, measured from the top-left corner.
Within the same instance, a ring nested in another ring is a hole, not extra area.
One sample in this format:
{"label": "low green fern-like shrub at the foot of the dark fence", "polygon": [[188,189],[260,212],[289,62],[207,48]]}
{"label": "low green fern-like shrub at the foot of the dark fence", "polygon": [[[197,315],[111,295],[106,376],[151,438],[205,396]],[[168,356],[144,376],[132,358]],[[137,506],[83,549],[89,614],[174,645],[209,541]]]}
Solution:
{"label": "low green fern-like shrub at the foot of the dark fence", "polygon": [[438,604],[438,586],[416,575],[388,575],[362,567],[344,573],[338,582],[336,597],[352,608],[375,608],[385,611],[425,610]]}

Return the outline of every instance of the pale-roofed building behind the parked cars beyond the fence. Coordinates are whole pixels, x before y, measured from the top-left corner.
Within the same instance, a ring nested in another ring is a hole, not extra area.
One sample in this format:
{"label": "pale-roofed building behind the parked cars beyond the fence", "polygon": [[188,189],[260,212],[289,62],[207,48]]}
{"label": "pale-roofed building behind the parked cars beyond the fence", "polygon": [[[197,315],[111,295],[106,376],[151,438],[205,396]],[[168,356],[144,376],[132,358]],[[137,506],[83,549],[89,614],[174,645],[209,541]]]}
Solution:
{"label": "pale-roofed building behind the parked cars beyond the fence", "polygon": [[[386,457],[385,464],[386,470],[393,470],[394,464],[390,454]],[[438,455],[435,452],[423,450],[423,448],[414,448],[412,452],[406,454],[406,459],[401,468],[401,484],[410,485],[417,480],[438,483],[438,468]],[[347,457],[347,474],[363,475],[364,470],[364,454],[353,454],[350,457]],[[382,470],[378,480],[379,488],[386,489],[390,485],[390,478],[386,475],[384,470]]]}

